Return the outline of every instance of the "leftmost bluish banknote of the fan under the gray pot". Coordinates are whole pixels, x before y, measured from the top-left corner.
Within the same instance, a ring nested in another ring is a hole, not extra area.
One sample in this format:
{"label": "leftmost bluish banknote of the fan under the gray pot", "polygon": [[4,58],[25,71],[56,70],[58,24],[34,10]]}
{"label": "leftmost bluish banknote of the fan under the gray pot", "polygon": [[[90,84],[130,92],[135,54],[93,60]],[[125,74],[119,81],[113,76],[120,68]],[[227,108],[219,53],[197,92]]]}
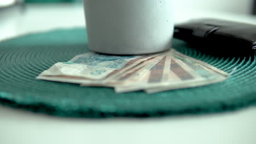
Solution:
{"label": "leftmost bluish banknote of the fan under the gray pot", "polygon": [[113,56],[90,52],[75,56],[68,62],[54,64],[48,70],[43,71],[37,79],[45,76],[69,76],[79,77],[81,79],[101,80],[109,75],[125,71],[133,67],[133,65],[153,56],[155,55]]}

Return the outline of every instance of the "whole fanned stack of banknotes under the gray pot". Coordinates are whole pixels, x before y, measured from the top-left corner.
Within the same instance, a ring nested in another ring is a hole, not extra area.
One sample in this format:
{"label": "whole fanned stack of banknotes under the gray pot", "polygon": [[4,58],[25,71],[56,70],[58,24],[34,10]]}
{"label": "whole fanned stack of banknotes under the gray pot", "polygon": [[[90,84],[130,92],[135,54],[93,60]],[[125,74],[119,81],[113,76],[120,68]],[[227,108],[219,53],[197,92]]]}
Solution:
{"label": "whole fanned stack of banknotes under the gray pot", "polygon": [[171,49],[141,56],[89,52],[54,64],[37,79],[85,87],[113,87],[116,93],[141,90],[156,93],[222,82],[228,76],[210,64]]}

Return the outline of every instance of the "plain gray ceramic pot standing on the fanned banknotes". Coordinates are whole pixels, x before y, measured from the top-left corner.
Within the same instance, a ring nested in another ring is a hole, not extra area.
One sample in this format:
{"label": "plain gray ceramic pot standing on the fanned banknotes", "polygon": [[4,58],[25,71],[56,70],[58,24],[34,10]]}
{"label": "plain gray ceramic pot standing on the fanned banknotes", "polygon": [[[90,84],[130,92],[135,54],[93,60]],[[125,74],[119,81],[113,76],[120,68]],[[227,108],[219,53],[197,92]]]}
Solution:
{"label": "plain gray ceramic pot standing on the fanned banknotes", "polygon": [[171,47],[173,0],[84,0],[89,48],[138,55]]}

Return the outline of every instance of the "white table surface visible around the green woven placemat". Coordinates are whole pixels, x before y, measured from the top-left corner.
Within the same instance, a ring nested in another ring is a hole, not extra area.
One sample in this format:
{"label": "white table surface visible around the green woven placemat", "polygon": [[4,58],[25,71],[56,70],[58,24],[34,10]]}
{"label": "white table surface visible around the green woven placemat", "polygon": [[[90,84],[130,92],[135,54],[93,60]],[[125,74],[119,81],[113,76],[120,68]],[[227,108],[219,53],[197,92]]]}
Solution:
{"label": "white table surface visible around the green woven placemat", "polygon": [[[177,13],[178,12],[178,13]],[[213,11],[176,11],[193,17],[256,22],[255,17]],[[0,13],[0,40],[54,28],[85,26],[81,5],[28,5]],[[0,105],[0,143],[256,143],[256,107],[209,115],[162,118],[62,118]]]}

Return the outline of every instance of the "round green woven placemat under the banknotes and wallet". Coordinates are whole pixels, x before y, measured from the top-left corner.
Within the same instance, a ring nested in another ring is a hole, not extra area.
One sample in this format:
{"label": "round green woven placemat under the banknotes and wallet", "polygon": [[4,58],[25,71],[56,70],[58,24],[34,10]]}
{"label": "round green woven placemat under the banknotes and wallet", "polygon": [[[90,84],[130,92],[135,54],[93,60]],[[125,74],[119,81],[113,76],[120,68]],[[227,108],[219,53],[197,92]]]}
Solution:
{"label": "round green woven placemat under the banknotes and wallet", "polygon": [[228,73],[230,79],[213,85],[155,94],[114,93],[112,88],[79,87],[36,80],[56,62],[89,52],[84,28],[24,35],[0,43],[0,103],[67,117],[153,117],[184,113],[212,113],[256,104],[256,58],[203,55],[174,39],[178,51]]}

